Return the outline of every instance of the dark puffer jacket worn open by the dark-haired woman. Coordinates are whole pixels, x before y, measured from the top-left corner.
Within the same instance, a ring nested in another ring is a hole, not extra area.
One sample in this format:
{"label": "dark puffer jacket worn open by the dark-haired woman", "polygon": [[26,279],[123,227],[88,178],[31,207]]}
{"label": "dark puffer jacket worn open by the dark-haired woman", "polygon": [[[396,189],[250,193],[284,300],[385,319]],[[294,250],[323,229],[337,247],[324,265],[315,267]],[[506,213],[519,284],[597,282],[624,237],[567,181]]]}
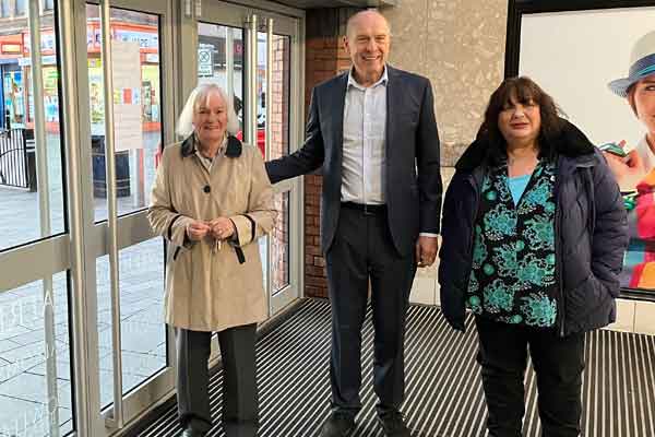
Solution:
{"label": "dark puffer jacket worn open by the dark-haired woman", "polygon": [[[560,335],[590,331],[616,320],[615,298],[628,246],[626,210],[600,152],[567,122],[552,143],[557,152],[555,223]],[[445,192],[439,252],[441,309],[450,324],[464,331],[473,234],[489,144],[468,146]]]}

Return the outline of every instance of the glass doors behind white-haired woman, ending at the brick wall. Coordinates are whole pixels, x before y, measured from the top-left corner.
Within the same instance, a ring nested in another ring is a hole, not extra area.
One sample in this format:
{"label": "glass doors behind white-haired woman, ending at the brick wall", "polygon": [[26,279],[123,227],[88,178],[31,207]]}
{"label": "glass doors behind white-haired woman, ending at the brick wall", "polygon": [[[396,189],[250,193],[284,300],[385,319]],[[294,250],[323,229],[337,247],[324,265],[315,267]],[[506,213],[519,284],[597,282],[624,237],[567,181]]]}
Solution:
{"label": "glass doors behind white-haired woman, ending at the brick wall", "polygon": [[[200,83],[224,87],[239,117],[237,137],[265,160],[288,154],[302,138],[301,14],[288,12],[204,1],[186,16],[195,34],[181,35],[182,54],[192,54],[182,63],[195,69],[180,71],[180,102]],[[300,196],[298,180],[275,186],[277,224],[259,240],[270,317],[300,296]]]}

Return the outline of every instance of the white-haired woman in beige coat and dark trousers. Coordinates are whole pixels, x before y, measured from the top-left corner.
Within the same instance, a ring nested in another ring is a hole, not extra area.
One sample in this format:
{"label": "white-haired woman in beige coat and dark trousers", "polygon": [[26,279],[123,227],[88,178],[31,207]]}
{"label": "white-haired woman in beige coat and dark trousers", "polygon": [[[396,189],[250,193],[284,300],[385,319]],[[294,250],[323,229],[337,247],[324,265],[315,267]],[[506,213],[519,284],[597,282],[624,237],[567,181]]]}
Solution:
{"label": "white-haired woman in beige coat and dark trousers", "polygon": [[258,238],[276,212],[262,156],[233,135],[237,129],[226,93],[198,86],[178,122],[187,139],[164,150],[148,209],[153,229],[168,240],[165,311],[176,328],[183,437],[212,426],[212,332],[223,358],[224,426],[254,435],[259,420],[255,328],[266,306]]}

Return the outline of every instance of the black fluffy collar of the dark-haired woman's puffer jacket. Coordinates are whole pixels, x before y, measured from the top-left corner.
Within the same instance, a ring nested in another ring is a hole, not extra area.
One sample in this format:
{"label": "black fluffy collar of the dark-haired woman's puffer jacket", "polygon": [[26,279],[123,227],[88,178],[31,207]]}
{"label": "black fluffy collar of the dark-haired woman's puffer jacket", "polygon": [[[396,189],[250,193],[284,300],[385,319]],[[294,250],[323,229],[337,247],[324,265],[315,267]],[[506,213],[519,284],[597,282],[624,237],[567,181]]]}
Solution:
{"label": "black fluffy collar of the dark-haired woman's puffer jacket", "polygon": [[[594,163],[594,144],[586,138],[580,129],[568,120],[560,134],[552,140],[555,152],[559,156],[572,161],[574,167],[591,166]],[[462,157],[455,164],[460,172],[471,173],[487,162],[487,152],[490,147],[487,138],[478,138],[465,151]]]}

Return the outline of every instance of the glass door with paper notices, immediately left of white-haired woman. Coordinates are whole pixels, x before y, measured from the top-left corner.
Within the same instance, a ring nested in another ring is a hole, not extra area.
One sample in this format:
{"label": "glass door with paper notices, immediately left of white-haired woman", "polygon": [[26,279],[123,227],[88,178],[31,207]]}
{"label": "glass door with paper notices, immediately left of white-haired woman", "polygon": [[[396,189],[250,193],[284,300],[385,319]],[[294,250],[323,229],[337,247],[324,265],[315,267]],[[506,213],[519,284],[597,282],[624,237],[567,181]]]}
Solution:
{"label": "glass door with paper notices, immediately left of white-haired woman", "polygon": [[93,436],[120,432],[175,386],[164,241],[146,217],[158,151],[172,139],[171,11],[165,1],[73,1]]}

